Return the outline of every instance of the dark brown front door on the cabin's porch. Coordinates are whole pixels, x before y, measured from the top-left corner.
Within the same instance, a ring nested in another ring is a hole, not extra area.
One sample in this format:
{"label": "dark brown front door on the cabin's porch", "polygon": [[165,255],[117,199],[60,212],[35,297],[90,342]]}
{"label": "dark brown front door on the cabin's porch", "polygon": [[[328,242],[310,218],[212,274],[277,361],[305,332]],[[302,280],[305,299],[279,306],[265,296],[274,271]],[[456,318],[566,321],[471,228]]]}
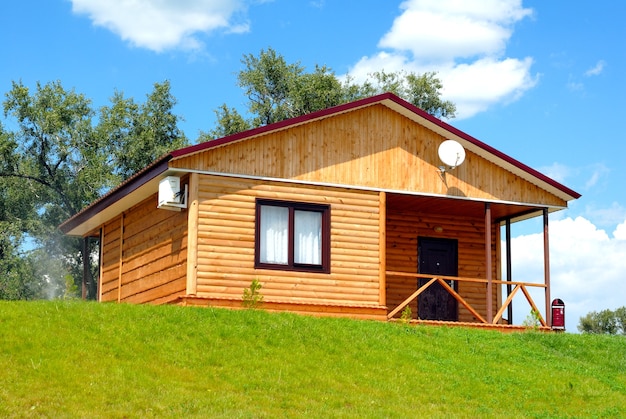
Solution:
{"label": "dark brown front door on the cabin's porch", "polygon": [[[443,276],[457,276],[458,243],[454,239],[419,237],[418,272]],[[420,278],[418,286],[426,284],[430,278]],[[455,291],[456,281],[446,281]],[[422,320],[458,320],[458,303],[439,283],[432,284],[418,297],[417,315]]]}

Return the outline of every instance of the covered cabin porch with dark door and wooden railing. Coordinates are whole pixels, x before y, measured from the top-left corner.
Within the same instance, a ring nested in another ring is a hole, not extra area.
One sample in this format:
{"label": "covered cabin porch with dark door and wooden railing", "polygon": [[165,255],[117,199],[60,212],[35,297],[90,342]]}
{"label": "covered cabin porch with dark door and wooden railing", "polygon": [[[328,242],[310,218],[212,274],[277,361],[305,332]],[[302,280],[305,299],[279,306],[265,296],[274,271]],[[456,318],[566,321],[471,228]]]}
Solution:
{"label": "covered cabin porch with dark door and wooden railing", "polygon": [[[389,321],[403,313],[407,320],[410,312],[412,323],[521,329],[523,318],[512,321],[515,303],[527,304],[526,314],[538,314],[539,329],[550,329],[549,208],[455,196],[388,193],[381,198],[386,211],[381,304]],[[514,281],[511,224],[534,217],[543,219],[544,278]],[[426,243],[435,243],[434,250]],[[439,244],[451,244],[453,254]]]}

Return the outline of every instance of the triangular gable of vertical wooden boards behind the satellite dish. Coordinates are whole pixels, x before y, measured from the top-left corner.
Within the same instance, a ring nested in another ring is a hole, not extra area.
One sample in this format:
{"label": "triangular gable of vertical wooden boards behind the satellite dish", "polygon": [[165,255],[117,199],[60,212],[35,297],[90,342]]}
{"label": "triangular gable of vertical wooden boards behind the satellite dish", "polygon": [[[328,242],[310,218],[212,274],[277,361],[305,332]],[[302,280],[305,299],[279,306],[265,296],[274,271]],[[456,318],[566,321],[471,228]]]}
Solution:
{"label": "triangular gable of vertical wooden boards behind the satellite dish", "polygon": [[467,151],[439,171],[446,138],[383,105],[228,144],[171,167],[444,196],[567,206],[555,195]]}

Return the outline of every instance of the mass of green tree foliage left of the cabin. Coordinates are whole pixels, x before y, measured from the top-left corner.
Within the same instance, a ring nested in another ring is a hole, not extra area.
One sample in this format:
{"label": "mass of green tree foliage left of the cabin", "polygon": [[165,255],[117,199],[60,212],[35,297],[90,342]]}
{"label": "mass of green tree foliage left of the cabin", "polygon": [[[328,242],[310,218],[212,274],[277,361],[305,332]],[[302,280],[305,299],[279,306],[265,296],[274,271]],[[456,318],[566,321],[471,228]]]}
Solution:
{"label": "mass of green tree foliage left of the cabin", "polygon": [[[14,82],[0,125],[0,298],[65,295],[82,280],[81,240],[57,226],[166,151],[187,144],[169,82],[144,104],[115,93],[95,118],[91,101],[60,82]],[[87,242],[86,255],[97,254]],[[88,269],[91,275],[97,269]],[[95,281],[89,281],[90,297]]]}

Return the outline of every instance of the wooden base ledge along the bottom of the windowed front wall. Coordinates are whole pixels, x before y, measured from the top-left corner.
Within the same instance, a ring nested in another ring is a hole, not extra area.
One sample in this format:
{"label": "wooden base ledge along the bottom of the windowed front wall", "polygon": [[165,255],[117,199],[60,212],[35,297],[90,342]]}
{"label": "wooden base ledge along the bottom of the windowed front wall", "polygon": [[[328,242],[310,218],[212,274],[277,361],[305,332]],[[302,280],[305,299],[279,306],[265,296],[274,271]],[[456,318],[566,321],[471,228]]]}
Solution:
{"label": "wooden base ledge along the bottom of the windowed front wall", "polygon": [[[196,307],[219,307],[242,309],[242,300],[237,298],[200,297],[196,295],[182,295],[173,304]],[[361,320],[387,320],[386,306],[370,306],[356,304],[323,304],[292,301],[264,300],[259,309],[280,312],[287,311],[296,314],[324,317],[349,317]]]}

